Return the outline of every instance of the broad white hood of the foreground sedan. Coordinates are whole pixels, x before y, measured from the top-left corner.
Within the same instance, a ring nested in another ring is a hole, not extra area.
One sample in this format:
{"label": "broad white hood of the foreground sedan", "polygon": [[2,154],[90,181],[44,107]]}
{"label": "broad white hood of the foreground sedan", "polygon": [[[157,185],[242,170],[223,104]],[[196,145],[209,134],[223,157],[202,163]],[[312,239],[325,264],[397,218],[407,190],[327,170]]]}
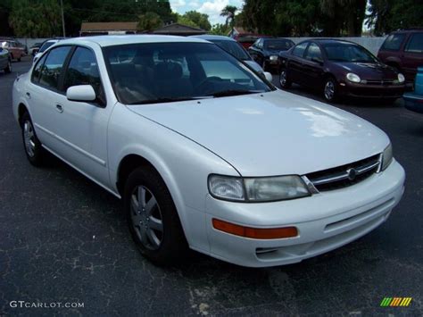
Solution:
{"label": "broad white hood of the foreground sedan", "polygon": [[242,176],[325,170],[379,154],[389,143],[352,113],[280,90],[128,107],[218,154]]}

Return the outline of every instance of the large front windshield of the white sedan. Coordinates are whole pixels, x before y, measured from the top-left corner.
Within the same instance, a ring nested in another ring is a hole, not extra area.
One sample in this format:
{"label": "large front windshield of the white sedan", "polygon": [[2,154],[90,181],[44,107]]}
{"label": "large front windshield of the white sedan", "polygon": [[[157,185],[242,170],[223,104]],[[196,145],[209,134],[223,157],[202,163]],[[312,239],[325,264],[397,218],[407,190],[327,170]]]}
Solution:
{"label": "large front windshield of the white sedan", "polygon": [[104,48],[123,104],[153,104],[270,91],[235,57],[206,43],[147,43]]}

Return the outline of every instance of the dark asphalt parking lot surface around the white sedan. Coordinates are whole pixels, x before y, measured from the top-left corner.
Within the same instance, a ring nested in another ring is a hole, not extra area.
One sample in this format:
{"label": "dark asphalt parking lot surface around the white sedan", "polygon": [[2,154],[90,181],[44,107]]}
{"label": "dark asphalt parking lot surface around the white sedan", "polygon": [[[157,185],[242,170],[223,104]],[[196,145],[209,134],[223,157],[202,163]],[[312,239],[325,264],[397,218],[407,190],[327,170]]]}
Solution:
{"label": "dark asphalt parking lot surface around the white sedan", "polygon": [[[0,73],[0,315],[423,314],[423,115],[402,100],[336,104],[384,129],[407,173],[402,202],[378,229],[283,267],[248,269],[193,254],[159,268],[138,254],[118,199],[59,160],[42,169],[27,162],[11,92],[29,66],[27,58]],[[409,307],[380,307],[387,296],[413,299]]]}

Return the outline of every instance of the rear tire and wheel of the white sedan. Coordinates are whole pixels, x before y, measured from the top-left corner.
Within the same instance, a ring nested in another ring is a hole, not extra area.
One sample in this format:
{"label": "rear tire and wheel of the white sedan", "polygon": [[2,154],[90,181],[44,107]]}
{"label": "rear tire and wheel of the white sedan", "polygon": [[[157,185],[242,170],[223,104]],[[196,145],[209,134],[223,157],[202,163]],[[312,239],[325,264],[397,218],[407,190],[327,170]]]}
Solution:
{"label": "rear tire and wheel of the white sedan", "polygon": [[44,163],[46,150],[41,146],[32,124],[29,113],[24,113],[21,118],[23,148],[29,163],[34,166],[41,166]]}

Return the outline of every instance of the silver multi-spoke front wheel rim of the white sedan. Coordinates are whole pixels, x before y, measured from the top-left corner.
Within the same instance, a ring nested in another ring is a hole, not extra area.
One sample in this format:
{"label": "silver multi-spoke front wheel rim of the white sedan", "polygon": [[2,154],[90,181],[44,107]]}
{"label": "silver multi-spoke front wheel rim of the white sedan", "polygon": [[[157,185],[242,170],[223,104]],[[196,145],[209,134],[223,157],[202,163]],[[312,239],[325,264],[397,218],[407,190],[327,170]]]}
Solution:
{"label": "silver multi-spoke front wheel rim of the white sedan", "polygon": [[162,245],[163,221],[160,206],[145,186],[137,186],[130,197],[132,226],[139,242],[150,250]]}

